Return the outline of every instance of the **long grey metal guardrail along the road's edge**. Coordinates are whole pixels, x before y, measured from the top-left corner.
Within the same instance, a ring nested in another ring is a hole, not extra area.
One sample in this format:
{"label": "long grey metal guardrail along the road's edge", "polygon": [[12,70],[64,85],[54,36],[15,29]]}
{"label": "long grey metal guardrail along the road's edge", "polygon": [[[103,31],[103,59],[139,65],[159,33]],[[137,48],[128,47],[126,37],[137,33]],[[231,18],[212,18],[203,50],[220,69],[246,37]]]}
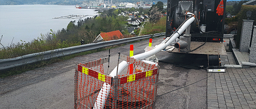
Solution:
{"label": "long grey metal guardrail along the road's edge", "polygon": [[55,58],[55,57],[66,56],[66,55],[71,55],[71,54],[75,54],[75,53],[99,49],[99,48],[103,48],[103,47],[107,47],[107,46],[113,46],[113,45],[117,45],[117,44],[133,42],[133,41],[137,41],[137,40],[141,40],[141,39],[147,39],[150,37],[158,37],[161,35],[165,35],[165,32],[157,33],[154,35],[130,37],[130,38],[125,38],[125,39],[98,42],[98,43],[93,43],[93,44],[72,46],[72,47],[63,48],[63,49],[43,51],[40,53],[33,53],[33,54],[24,55],[24,56],[19,56],[17,58],[0,59],[0,71],[6,70],[6,69],[9,69],[12,67],[18,67],[21,65],[36,63],[36,62],[39,62],[42,60],[48,60],[48,59]]}

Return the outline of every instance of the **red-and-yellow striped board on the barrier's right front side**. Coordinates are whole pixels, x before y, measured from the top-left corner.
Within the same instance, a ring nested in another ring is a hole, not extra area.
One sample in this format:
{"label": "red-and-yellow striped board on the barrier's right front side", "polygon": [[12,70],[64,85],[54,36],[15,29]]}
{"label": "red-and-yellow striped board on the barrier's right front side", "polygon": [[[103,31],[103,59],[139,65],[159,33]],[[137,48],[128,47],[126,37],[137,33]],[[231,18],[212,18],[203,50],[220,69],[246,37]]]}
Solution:
{"label": "red-and-yellow striped board on the barrier's right front side", "polygon": [[138,79],[142,79],[142,78],[146,78],[146,77],[151,77],[153,75],[157,74],[157,69],[153,69],[153,70],[148,70],[145,72],[140,72],[140,73],[136,73],[136,74],[130,74],[128,76],[125,77],[120,77],[120,84],[124,84],[124,83],[128,83],[131,81],[136,81]]}

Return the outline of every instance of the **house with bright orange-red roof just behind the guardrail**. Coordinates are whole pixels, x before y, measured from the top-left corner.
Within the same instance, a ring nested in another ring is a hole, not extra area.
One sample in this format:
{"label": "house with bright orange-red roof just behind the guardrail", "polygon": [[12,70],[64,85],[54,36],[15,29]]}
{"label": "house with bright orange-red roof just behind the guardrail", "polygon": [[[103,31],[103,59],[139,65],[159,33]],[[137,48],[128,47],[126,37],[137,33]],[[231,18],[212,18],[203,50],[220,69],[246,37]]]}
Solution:
{"label": "house with bright orange-red roof just behind the guardrail", "polygon": [[121,37],[123,37],[123,34],[119,30],[111,32],[102,32],[100,33],[100,35],[96,37],[96,39],[92,43],[120,39]]}

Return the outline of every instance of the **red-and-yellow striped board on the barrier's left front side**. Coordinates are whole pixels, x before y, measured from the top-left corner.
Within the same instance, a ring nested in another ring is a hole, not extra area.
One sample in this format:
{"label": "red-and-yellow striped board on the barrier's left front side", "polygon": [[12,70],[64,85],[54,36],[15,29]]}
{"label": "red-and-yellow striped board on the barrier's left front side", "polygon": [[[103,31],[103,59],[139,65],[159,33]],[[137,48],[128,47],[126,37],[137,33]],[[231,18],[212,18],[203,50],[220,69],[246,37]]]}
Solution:
{"label": "red-and-yellow striped board on the barrier's left front side", "polygon": [[103,81],[103,82],[106,82],[106,83],[109,83],[111,84],[111,78],[110,76],[106,75],[106,74],[102,74],[100,72],[97,72],[97,71],[94,71],[94,70],[91,70],[87,67],[83,67],[81,65],[78,65],[78,72],[82,72],[83,74],[87,74],[91,77],[94,77],[96,79],[99,79],[100,81]]}

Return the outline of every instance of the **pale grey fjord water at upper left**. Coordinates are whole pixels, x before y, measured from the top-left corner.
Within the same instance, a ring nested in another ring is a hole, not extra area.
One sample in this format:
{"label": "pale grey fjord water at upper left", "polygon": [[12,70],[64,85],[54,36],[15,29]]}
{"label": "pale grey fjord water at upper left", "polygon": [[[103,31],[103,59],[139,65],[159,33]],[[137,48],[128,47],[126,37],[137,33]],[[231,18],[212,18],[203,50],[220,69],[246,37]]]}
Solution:
{"label": "pale grey fjord water at upper left", "polygon": [[79,19],[52,19],[68,15],[97,15],[97,13],[94,9],[76,9],[73,5],[0,5],[0,36],[3,36],[1,43],[8,46],[13,37],[13,44],[21,43],[20,40],[30,42],[41,37],[41,33],[50,32],[50,29],[53,31],[66,29],[70,21],[78,22]]}

